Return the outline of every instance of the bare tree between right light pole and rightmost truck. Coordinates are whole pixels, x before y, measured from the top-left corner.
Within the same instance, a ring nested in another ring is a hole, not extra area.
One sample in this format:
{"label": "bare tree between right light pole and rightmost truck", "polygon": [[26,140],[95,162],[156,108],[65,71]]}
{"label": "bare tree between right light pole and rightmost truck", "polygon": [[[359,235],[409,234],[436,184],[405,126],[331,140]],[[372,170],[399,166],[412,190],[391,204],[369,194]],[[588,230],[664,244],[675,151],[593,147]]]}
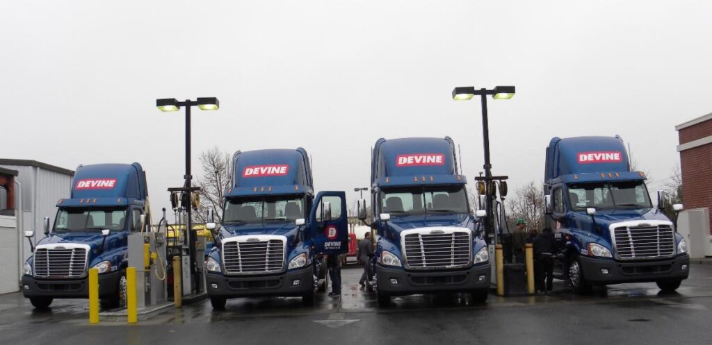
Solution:
{"label": "bare tree between right light pole and rightmost truck", "polygon": [[526,229],[541,229],[544,226],[544,201],[543,184],[530,181],[525,186],[519,187],[514,196],[508,199],[508,218],[522,218],[526,222]]}

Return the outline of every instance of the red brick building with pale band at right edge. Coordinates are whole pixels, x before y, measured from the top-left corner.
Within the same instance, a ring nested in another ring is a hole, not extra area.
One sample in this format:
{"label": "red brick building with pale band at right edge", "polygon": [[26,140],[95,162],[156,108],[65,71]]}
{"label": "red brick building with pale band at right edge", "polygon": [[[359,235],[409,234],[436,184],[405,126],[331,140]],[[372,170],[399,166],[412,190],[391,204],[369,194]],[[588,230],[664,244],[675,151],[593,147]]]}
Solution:
{"label": "red brick building with pale band at right edge", "polygon": [[708,208],[712,224],[712,113],[679,124],[682,198],[686,209]]}

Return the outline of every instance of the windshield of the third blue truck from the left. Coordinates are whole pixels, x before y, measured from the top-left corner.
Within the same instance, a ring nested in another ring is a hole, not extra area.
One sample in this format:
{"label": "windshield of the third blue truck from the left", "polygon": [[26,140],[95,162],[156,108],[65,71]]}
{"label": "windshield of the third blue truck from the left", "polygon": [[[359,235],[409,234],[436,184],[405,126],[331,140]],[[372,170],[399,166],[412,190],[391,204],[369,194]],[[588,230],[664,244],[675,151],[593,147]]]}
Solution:
{"label": "windshield of the third blue truck from the left", "polygon": [[468,213],[464,186],[413,186],[383,189],[384,213]]}

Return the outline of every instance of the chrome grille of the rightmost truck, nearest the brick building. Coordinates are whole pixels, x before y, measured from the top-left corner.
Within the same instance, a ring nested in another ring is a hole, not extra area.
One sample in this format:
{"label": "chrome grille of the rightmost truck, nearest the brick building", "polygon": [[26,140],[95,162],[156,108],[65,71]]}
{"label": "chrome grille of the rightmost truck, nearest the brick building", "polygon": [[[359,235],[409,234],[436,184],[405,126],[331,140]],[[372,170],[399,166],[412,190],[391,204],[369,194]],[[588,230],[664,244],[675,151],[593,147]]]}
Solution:
{"label": "chrome grille of the rightmost truck, nearest the brick building", "polygon": [[613,230],[613,241],[621,260],[675,255],[675,232],[670,225],[619,226]]}

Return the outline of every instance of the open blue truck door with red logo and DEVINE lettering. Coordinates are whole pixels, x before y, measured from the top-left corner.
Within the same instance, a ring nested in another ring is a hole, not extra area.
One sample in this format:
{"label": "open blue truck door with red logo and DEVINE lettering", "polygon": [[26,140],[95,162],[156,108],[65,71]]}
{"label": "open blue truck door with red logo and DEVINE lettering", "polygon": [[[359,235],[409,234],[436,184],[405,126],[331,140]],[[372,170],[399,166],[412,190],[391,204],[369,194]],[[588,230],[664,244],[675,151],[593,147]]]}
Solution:
{"label": "open blue truck door with red logo and DEVINE lettering", "polygon": [[[330,208],[330,214],[328,214],[328,208]],[[349,230],[345,192],[319,192],[309,219],[310,238],[315,254],[337,255],[348,252]]]}

